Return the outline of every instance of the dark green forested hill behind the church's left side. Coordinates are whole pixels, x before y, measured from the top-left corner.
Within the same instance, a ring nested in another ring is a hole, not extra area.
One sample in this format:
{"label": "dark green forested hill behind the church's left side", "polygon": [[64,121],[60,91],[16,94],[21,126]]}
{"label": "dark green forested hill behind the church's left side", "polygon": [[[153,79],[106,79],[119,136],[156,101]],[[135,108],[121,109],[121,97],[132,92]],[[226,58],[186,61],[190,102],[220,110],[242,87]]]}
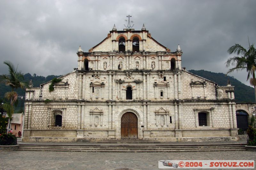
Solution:
{"label": "dark green forested hill behind the church's left side", "polygon": [[[24,75],[24,81],[28,83],[30,80],[32,80],[33,86],[39,87],[40,84],[46,83],[48,81],[51,81],[53,78],[55,78],[55,77],[57,78],[60,76],[50,75],[50,76],[44,77],[44,76],[37,76],[36,74],[33,74],[33,76],[32,76],[31,74],[27,73]],[[0,83],[0,98],[1,99],[4,97],[4,93],[9,92],[9,91],[11,91],[10,87],[5,86],[3,83]],[[15,91],[18,93],[19,96],[25,96],[25,90],[17,89]]]}

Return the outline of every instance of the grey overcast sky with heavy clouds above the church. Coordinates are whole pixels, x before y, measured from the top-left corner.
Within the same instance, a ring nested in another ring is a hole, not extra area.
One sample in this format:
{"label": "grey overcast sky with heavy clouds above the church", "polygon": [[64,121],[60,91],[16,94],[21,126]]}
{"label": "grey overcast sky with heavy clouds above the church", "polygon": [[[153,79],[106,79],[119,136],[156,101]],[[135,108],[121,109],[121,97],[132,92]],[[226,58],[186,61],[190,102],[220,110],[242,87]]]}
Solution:
{"label": "grey overcast sky with heavy clouds above the church", "polygon": [[[256,43],[255,0],[1,0],[0,74],[10,60],[23,73],[63,75],[77,67],[77,49],[102,41],[113,25],[123,30],[127,15],[134,29],[143,23],[164,46],[183,51],[187,70],[227,72],[229,47]],[[245,72],[231,74],[246,82]]]}

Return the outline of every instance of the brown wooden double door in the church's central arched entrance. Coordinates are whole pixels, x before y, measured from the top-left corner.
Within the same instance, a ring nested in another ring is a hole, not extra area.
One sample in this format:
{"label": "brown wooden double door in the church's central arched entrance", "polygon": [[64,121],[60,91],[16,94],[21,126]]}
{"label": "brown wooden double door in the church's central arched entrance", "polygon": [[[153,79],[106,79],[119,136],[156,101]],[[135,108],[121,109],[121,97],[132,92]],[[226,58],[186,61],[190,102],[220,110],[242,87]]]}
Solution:
{"label": "brown wooden double door in the church's central arched entrance", "polygon": [[126,112],[121,118],[121,138],[138,138],[138,118],[132,112]]}

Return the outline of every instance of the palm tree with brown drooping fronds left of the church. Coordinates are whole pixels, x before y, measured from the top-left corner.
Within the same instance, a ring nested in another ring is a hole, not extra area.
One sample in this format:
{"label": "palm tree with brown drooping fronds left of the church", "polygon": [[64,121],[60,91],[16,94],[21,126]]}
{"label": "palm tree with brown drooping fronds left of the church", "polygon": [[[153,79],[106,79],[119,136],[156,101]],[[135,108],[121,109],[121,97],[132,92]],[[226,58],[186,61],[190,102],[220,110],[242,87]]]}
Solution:
{"label": "palm tree with brown drooping fronds left of the church", "polygon": [[23,77],[23,73],[21,73],[20,71],[17,71],[18,66],[15,69],[14,65],[10,61],[4,61],[4,64],[8,66],[9,74],[0,75],[0,82],[12,88],[11,92],[6,92],[4,94],[4,97],[8,101],[10,101],[10,103],[7,102],[1,105],[1,107],[7,112],[7,115],[9,117],[8,129],[7,129],[7,132],[8,132],[12,114],[14,113],[15,103],[17,102],[17,98],[18,98],[18,94],[17,92],[14,92],[14,89],[17,89],[17,88],[25,89],[26,83],[22,82],[24,80],[24,77]]}

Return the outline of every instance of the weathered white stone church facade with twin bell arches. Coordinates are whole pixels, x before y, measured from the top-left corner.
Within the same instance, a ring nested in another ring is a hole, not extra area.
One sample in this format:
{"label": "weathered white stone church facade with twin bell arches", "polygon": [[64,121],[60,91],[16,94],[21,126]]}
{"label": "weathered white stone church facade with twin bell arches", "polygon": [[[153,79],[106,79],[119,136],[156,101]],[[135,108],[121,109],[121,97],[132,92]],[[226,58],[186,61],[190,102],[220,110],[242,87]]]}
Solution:
{"label": "weathered white stone church facade with twin bell arches", "polygon": [[49,92],[26,90],[23,142],[108,139],[237,140],[234,86],[218,86],[181,67],[182,51],[142,29],[117,31]]}

